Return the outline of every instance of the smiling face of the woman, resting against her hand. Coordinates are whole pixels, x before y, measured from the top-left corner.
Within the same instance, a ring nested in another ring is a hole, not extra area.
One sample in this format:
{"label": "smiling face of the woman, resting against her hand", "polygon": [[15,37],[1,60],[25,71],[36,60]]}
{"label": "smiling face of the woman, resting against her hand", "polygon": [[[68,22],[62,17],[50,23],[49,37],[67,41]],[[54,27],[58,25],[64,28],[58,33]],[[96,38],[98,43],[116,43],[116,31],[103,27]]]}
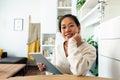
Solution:
{"label": "smiling face of the woman, resting against her hand", "polygon": [[77,26],[72,18],[66,17],[61,22],[61,33],[65,40],[70,39],[75,33],[80,32],[80,27]]}

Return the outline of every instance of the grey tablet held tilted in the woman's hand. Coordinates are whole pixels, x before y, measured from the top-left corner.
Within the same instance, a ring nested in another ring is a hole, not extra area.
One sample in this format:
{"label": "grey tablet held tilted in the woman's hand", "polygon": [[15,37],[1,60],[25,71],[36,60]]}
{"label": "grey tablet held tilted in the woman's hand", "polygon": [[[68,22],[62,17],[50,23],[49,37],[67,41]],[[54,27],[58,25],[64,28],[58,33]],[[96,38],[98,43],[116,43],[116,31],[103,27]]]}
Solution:
{"label": "grey tablet held tilted in the woman's hand", "polygon": [[30,53],[31,56],[35,59],[36,62],[41,62],[46,66],[46,71],[49,71],[53,74],[62,74],[51,62],[49,62],[42,54],[40,53]]}

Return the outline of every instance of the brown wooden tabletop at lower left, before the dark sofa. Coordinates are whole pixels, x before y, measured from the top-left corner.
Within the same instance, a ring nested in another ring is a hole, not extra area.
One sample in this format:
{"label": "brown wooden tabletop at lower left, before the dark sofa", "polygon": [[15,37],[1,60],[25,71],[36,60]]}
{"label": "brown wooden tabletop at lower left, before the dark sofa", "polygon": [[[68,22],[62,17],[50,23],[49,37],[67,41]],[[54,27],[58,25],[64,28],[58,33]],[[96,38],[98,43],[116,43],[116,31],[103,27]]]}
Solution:
{"label": "brown wooden tabletop at lower left, before the dark sofa", "polygon": [[0,79],[13,76],[25,66],[26,64],[0,64]]}

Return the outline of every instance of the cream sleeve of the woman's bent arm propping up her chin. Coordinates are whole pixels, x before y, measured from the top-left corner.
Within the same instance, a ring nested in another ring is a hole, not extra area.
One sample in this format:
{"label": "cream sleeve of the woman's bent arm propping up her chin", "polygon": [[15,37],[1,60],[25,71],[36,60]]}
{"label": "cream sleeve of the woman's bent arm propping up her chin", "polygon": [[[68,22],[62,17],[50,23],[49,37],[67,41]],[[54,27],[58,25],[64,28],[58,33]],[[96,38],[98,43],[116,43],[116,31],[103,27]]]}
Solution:
{"label": "cream sleeve of the woman's bent arm propping up her chin", "polygon": [[96,59],[96,49],[88,43],[77,47],[74,38],[68,42],[68,57],[70,70],[74,75],[85,75]]}

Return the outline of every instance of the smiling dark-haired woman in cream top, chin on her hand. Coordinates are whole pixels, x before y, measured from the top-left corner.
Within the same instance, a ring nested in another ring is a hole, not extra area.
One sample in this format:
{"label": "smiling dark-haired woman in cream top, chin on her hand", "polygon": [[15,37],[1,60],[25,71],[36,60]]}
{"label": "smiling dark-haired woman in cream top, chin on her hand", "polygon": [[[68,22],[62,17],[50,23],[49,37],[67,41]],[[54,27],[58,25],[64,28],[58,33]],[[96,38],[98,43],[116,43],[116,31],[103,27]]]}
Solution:
{"label": "smiling dark-haired woman in cream top, chin on her hand", "polygon": [[[96,50],[87,42],[83,42],[80,33],[80,23],[76,16],[64,15],[59,21],[59,31],[64,38],[56,45],[52,63],[63,73],[85,75],[96,59]],[[37,63],[40,71],[45,65]]]}

